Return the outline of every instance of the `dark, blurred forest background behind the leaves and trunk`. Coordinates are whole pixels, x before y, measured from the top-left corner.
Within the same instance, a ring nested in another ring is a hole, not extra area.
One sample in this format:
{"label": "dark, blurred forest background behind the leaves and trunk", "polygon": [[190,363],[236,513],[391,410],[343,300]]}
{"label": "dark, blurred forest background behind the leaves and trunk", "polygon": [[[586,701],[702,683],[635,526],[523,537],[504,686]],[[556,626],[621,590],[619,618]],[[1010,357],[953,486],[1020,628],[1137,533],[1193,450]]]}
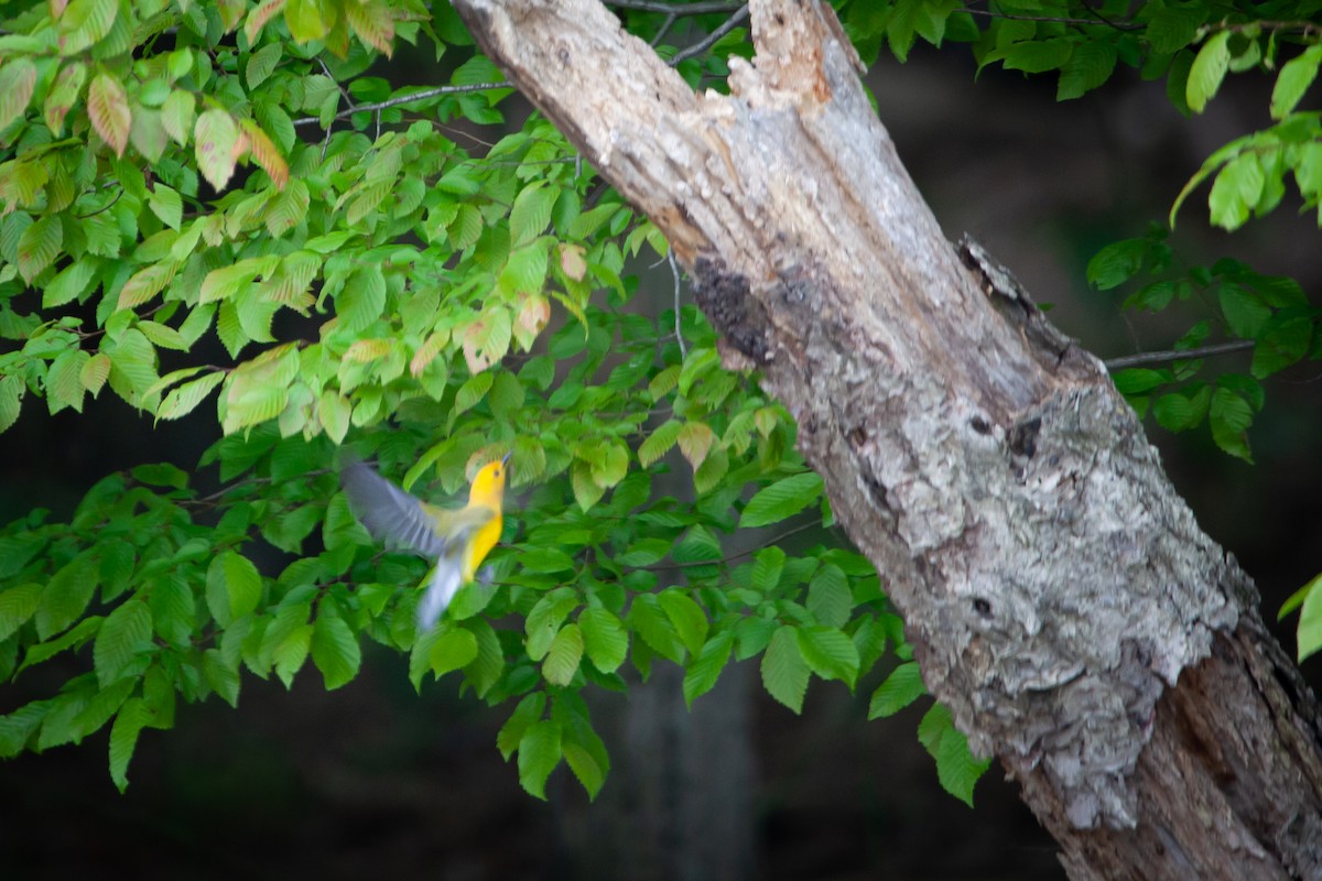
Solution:
{"label": "dark, blurred forest background behind the leaves and trunk", "polygon": [[[883,58],[870,77],[947,234],[977,238],[1103,358],[1169,347],[1187,322],[1121,316],[1121,295],[1089,291],[1084,267],[1107,242],[1165,218],[1212,149],[1268,124],[1270,82],[1232,77],[1228,94],[1190,122],[1163,83],[1129,71],[1067,104],[1055,103],[1051,78],[988,70],[974,83],[973,73],[958,48],[919,46],[908,65]],[[1207,227],[1204,185],[1173,244],[1191,262],[1237,256],[1313,292],[1318,230],[1294,207],[1288,198],[1229,236]],[[642,287],[668,299],[670,277],[660,272]],[[1247,365],[1245,354],[1216,367]],[[1310,363],[1270,382],[1251,435],[1256,466],[1219,453],[1206,429],[1150,429],[1202,526],[1257,579],[1269,619],[1322,569],[1319,378]],[[0,516],[36,505],[67,515],[93,482],[141,462],[192,468],[214,432],[210,413],[202,407],[192,423],[153,429],[108,392],[82,416],[49,417],[29,399],[0,435]],[[1278,635],[1293,651],[1293,626]],[[1319,670],[1317,659],[1305,664],[1314,683]],[[406,672],[405,659],[365,643],[358,679],[333,693],[309,666],[290,692],[245,678],[238,711],[218,700],[181,705],[175,730],[143,733],[126,795],[106,771],[104,730],[0,763],[0,874],[1063,877],[1051,840],[998,767],[978,785],[976,811],[940,791],[915,738],[923,705],[865,721],[880,672],[855,695],[814,683],[801,717],[761,692],[750,664],[728,670],[693,713],[674,670],[658,670],[628,699],[595,695],[615,767],[592,807],[563,767],[549,803],[520,789],[494,748],[509,708],[457,696],[453,678],[415,695]],[[5,686],[0,712],[42,684],[30,676]]]}

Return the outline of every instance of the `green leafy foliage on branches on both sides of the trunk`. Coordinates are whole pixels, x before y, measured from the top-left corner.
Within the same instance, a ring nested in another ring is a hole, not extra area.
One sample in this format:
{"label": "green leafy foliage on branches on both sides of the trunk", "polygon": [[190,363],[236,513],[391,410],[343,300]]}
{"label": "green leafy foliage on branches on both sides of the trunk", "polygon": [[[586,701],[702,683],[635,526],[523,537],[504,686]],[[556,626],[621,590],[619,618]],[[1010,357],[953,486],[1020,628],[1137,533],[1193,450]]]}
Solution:
{"label": "green leafy foliage on branches on both sides of the trunk", "polygon": [[[612,5],[694,86],[719,88],[722,59],[748,53],[739,4]],[[1273,207],[1286,173],[1310,205],[1322,190],[1317,114],[1296,110],[1317,28],[1297,7],[1278,22],[1263,4],[837,5],[869,59],[882,44],[903,58],[916,36],[968,41],[981,63],[1059,70],[1062,98],[1122,62],[1166,75],[1192,110],[1228,69],[1307,44],[1281,69],[1280,124],[1199,174],[1225,226]],[[760,656],[797,712],[812,676],[854,688],[892,655],[870,715],[923,695],[883,582],[824,528],[788,415],[756,375],[719,366],[678,279],[660,306],[636,296],[665,242],[510,98],[447,4],[0,15],[0,431],[110,394],[217,437],[196,476],[143,465],[67,522],[36,510],[0,531],[0,678],[57,655],[81,670],[5,707],[0,756],[108,725],[123,787],[140,732],[171,728],[178,699],[237,704],[245,671],[288,684],[309,662],[337,688],[364,639],[407,652],[418,687],[431,675],[506,705],[497,746],[535,795],[562,759],[600,789],[609,759],[580,691],[624,689],[654,663],[683,667],[691,703],[732,658]],[[423,65],[426,82],[401,82]],[[1100,287],[1170,265],[1162,236],[1134,242],[1099,256]],[[1220,312],[1183,345],[1214,328],[1251,339],[1253,375],[1199,386],[1186,361],[1117,380],[1141,396],[1177,386],[1153,399],[1158,420],[1207,419],[1247,456],[1257,379],[1315,353],[1314,310],[1239,265],[1158,284],[1134,302],[1216,285]],[[430,634],[414,626],[428,564],[383,553],[354,520],[345,445],[432,499],[513,454],[494,582],[465,588]],[[728,549],[738,530],[763,530],[742,539],[755,549]],[[949,713],[933,705],[920,738],[970,799],[986,762]]]}

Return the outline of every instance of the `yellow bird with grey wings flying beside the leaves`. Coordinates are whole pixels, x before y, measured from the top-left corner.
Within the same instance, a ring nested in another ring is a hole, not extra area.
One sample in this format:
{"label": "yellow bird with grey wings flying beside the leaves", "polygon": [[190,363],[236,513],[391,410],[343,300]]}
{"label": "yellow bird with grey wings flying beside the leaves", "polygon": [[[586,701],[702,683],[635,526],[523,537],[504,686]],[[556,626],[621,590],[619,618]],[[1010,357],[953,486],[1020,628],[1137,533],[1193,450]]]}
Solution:
{"label": "yellow bird with grey wings flying beside the leaves", "polygon": [[350,462],[340,482],[353,512],[378,542],[436,561],[418,604],[418,630],[427,633],[500,540],[501,503],[509,454],[488,462],[468,490],[468,505],[443,509],[403,491],[370,466]]}

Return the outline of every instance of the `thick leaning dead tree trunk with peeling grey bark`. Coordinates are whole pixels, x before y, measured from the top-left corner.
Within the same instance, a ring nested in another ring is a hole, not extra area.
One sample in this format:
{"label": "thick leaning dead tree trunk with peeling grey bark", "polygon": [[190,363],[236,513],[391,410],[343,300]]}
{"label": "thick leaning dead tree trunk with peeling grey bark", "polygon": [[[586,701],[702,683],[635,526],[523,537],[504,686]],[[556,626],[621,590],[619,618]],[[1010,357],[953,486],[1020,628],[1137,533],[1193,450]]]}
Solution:
{"label": "thick leaning dead tree trunk with peeling grey bark", "polygon": [[1322,877],[1322,721],[1105,367],[943,235],[816,0],[694,94],[595,0],[453,0],[798,421],[923,676],[1073,878]]}

